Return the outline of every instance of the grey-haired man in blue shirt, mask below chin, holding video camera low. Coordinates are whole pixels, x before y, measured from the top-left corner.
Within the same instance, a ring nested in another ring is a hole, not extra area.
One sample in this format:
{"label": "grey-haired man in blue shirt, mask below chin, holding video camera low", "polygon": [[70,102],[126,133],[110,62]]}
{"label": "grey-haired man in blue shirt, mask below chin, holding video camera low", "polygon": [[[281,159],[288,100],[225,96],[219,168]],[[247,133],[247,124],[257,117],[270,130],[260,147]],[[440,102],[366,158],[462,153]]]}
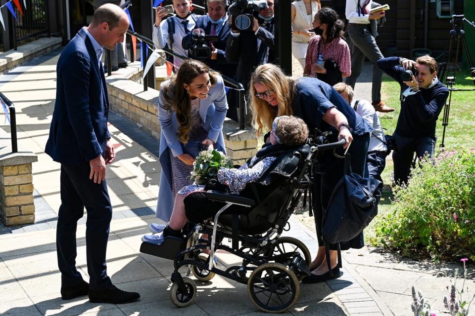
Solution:
{"label": "grey-haired man in blue shirt, mask below chin, holding video camera low", "polygon": [[[204,35],[218,36],[218,40],[207,41],[205,44],[211,49],[211,57],[201,59],[210,68],[219,71],[222,75],[234,77],[237,64],[226,61],[226,42],[229,37],[228,14],[226,12],[227,0],[207,0],[207,15],[202,15],[196,20],[193,32],[188,33],[182,40],[183,49],[190,49],[197,42],[196,37]],[[192,52],[189,51],[189,57]]]}

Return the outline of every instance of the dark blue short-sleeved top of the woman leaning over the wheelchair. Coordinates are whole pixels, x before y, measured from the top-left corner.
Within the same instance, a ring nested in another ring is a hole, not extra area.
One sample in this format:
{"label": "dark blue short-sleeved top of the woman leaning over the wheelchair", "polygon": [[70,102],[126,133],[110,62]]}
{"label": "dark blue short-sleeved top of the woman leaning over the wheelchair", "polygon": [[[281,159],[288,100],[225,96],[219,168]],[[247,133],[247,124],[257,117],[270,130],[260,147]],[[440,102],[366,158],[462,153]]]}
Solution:
{"label": "dark blue short-sleeved top of the woman leaning over the wheelchair", "polygon": [[325,112],[332,107],[348,119],[353,135],[363,135],[373,131],[373,127],[348,106],[348,103],[331,85],[311,77],[297,79],[292,102],[293,115],[305,121],[311,135],[315,127],[322,131],[332,130],[333,133],[338,134],[334,127],[322,119]]}

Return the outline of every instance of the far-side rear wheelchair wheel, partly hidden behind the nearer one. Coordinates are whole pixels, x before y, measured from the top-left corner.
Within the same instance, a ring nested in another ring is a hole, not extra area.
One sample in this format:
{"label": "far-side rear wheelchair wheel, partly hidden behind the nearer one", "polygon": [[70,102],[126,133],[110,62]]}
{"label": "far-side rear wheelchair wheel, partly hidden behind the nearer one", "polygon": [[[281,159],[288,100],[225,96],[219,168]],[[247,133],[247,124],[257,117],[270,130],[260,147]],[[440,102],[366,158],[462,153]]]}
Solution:
{"label": "far-side rear wheelchair wheel, partly hidden behind the nearer one", "polygon": [[[266,251],[265,255],[268,257],[270,262],[281,263],[285,266],[289,266],[292,262],[293,253],[298,252],[300,256],[305,260],[307,267],[310,268],[312,263],[312,257],[307,246],[300,240],[294,237],[280,237],[272,245],[272,247]],[[299,281],[301,281],[305,276],[305,273],[296,274]]]}

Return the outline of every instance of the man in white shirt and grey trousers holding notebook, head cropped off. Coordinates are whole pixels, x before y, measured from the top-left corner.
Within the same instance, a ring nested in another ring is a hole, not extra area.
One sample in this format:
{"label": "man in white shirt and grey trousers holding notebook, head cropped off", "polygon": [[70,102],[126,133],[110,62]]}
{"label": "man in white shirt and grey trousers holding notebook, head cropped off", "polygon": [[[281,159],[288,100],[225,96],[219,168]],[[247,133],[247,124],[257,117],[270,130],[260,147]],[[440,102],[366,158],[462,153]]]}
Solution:
{"label": "man in white shirt and grey trousers holding notebook, head cropped off", "polygon": [[379,20],[385,12],[381,10],[371,13],[372,2],[372,0],[346,0],[345,13],[348,20],[348,36],[352,42],[352,47],[351,76],[346,78],[345,82],[354,89],[356,79],[358,79],[363,69],[365,57],[368,57],[373,63],[372,104],[376,111],[392,112],[394,109],[381,101],[382,71],[376,63],[383,56],[370,27],[370,20]]}

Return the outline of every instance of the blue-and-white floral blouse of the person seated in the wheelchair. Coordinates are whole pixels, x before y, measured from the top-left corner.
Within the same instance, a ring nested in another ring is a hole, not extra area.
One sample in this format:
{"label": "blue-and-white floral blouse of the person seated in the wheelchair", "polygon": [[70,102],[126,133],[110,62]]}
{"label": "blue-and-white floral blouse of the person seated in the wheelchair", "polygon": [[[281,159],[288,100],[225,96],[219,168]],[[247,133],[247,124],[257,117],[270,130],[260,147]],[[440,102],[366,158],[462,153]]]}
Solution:
{"label": "blue-and-white floral blouse of the person seated in the wheelchair", "polygon": [[[251,162],[255,161],[257,157],[253,157]],[[276,157],[267,157],[256,163],[252,168],[244,163],[239,169],[221,168],[218,171],[218,181],[229,186],[229,190],[233,193],[238,193],[244,189],[249,182],[259,179],[264,171],[272,164]],[[204,186],[190,185],[183,187],[178,194],[187,196],[192,192],[204,191]]]}

